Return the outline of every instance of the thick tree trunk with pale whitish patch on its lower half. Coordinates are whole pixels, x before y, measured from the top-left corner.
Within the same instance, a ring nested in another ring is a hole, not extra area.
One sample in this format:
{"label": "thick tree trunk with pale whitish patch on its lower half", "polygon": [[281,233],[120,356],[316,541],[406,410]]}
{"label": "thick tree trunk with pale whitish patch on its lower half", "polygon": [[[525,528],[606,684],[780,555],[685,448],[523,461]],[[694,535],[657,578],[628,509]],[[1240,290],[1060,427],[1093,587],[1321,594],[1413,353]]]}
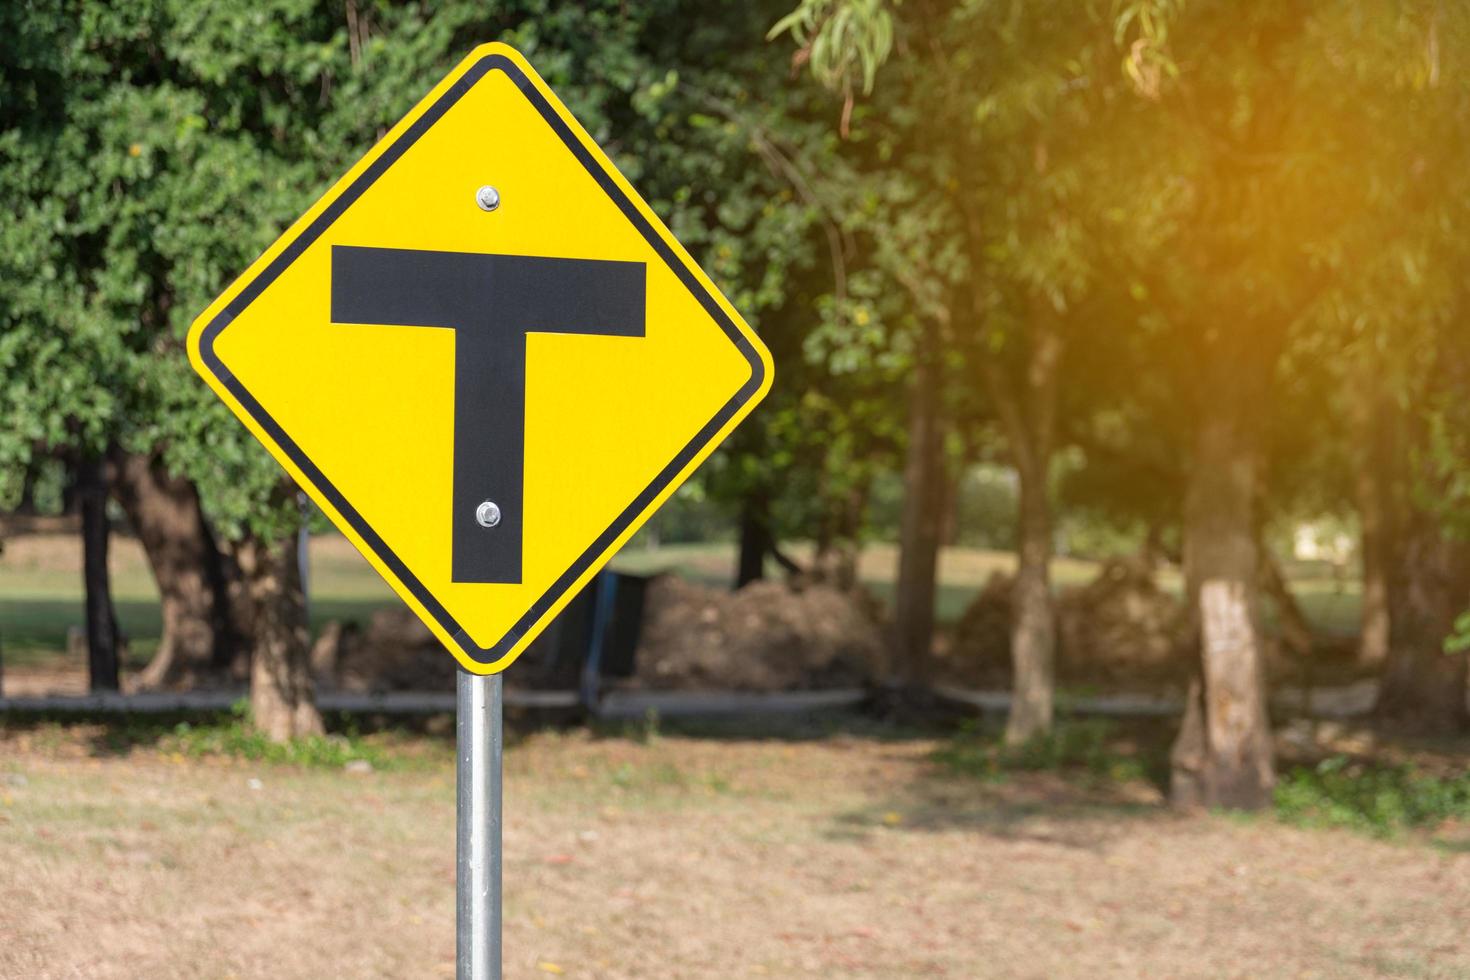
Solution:
{"label": "thick tree trunk with pale whitish patch on its lower half", "polygon": [[1200,676],[1173,748],[1172,796],[1185,807],[1257,810],[1270,804],[1276,779],[1257,599],[1257,445],[1248,400],[1229,383],[1219,388],[1197,422],[1185,497]]}

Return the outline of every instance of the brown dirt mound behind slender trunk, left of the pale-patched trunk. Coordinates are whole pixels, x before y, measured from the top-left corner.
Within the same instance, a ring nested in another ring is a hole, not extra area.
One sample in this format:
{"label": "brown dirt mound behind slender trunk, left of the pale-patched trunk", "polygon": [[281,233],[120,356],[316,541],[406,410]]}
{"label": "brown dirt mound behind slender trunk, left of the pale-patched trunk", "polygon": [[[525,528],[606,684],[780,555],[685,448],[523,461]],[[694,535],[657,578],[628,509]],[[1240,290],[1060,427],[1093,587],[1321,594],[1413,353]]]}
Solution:
{"label": "brown dirt mound behind slender trunk, left of the pale-patched trunk", "polygon": [[[994,574],[956,624],[941,657],[954,683],[1010,677],[1014,579]],[[1188,674],[1183,604],[1139,561],[1114,560],[1097,579],[1057,597],[1057,670],[1066,682],[1138,683]]]}

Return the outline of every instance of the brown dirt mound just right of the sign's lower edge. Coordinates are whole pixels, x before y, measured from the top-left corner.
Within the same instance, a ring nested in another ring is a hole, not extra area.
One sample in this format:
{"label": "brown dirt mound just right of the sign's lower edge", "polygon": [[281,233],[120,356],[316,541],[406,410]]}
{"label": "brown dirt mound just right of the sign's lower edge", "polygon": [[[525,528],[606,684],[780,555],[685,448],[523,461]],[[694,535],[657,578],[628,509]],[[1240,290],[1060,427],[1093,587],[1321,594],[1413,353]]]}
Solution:
{"label": "brown dirt mound just right of the sign's lower edge", "polygon": [[753,582],[738,592],[673,576],[648,588],[634,686],[795,691],[856,686],[878,673],[881,627],[825,585]]}

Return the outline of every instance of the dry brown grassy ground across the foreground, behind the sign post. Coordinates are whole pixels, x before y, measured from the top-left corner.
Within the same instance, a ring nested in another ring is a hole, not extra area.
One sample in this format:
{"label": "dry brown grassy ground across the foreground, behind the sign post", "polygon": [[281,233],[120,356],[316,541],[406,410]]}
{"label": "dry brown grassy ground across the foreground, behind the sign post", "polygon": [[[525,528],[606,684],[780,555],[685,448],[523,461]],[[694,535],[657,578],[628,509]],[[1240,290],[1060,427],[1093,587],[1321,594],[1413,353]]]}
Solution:
{"label": "dry brown grassy ground across the foreground, behind the sign post", "polygon": [[[448,977],[451,751],[365,774],[0,726],[0,977]],[[935,742],[537,733],[506,976],[1470,977],[1470,842],[1180,817]]]}

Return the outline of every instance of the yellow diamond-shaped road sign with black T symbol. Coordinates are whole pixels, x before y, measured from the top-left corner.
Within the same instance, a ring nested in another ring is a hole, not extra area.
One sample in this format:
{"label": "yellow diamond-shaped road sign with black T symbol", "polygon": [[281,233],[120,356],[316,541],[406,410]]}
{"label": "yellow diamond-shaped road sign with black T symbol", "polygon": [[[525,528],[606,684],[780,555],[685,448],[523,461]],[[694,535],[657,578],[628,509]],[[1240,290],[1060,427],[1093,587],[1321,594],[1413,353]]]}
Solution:
{"label": "yellow diamond-shaped road sign with black T symbol", "polygon": [[467,670],[504,670],[770,386],[544,81],[476,48],[190,331]]}

